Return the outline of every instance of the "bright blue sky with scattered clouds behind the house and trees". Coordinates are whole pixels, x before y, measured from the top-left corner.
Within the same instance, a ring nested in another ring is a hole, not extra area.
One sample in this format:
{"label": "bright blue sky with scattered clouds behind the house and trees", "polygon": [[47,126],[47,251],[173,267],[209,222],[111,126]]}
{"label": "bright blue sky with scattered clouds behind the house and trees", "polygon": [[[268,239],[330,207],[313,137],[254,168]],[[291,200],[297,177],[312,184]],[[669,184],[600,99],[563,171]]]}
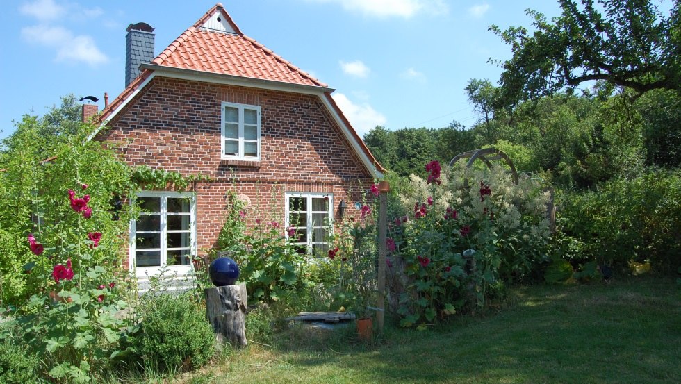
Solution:
{"label": "bright blue sky with scattered clouds behind the house and trees", "polygon": [[[110,99],[124,88],[130,23],[156,30],[156,54],[217,1],[10,0],[0,15],[0,138],[22,115],[42,115],[60,97]],[[555,0],[222,0],[241,31],[335,88],[363,135],[388,129],[470,126],[464,87],[495,82],[508,46],[490,24],[529,27],[527,8],[558,15]]]}

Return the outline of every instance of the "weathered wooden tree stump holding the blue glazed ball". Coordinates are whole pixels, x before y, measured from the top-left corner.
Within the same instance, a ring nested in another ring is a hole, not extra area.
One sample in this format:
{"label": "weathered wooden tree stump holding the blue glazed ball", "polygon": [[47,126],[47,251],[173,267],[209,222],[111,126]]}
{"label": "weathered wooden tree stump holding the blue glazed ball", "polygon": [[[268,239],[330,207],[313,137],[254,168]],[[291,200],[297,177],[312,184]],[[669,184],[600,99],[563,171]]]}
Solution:
{"label": "weathered wooden tree stump holding the blue glazed ball", "polygon": [[218,342],[229,342],[233,347],[245,347],[246,341],[246,285],[225,285],[204,290],[206,317],[213,325]]}

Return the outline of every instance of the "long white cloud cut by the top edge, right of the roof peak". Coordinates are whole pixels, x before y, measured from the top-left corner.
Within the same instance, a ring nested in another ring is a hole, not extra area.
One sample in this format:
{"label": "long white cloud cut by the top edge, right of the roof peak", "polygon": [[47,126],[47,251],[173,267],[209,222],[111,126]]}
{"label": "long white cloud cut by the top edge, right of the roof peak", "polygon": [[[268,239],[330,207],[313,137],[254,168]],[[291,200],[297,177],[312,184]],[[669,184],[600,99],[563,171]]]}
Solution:
{"label": "long white cloud cut by the top edge, right of the roof peak", "polygon": [[372,17],[409,18],[419,12],[431,15],[447,13],[444,0],[308,0],[317,3],[338,3],[343,9]]}

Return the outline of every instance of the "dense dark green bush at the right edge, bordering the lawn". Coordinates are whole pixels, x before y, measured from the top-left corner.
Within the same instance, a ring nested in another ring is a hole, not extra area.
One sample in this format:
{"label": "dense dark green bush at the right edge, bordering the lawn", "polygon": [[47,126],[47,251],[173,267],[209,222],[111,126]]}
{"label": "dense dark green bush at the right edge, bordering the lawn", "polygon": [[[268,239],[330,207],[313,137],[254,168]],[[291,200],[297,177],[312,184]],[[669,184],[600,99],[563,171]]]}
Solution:
{"label": "dense dark green bush at the right edge, bordering the lawn", "polygon": [[596,190],[559,194],[557,223],[581,253],[574,262],[625,268],[648,260],[673,272],[681,253],[681,174],[650,169],[637,178],[616,178]]}

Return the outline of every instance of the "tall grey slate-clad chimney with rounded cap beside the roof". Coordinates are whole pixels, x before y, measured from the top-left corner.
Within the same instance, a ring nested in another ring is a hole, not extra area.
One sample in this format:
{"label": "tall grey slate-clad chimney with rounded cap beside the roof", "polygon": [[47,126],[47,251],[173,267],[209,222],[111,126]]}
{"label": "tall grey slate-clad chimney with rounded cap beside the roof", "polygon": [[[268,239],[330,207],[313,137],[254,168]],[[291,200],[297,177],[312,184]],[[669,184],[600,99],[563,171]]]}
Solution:
{"label": "tall grey slate-clad chimney with rounded cap beside the roof", "polygon": [[147,23],[130,24],[125,36],[125,86],[140,74],[140,65],[154,60],[154,28]]}

